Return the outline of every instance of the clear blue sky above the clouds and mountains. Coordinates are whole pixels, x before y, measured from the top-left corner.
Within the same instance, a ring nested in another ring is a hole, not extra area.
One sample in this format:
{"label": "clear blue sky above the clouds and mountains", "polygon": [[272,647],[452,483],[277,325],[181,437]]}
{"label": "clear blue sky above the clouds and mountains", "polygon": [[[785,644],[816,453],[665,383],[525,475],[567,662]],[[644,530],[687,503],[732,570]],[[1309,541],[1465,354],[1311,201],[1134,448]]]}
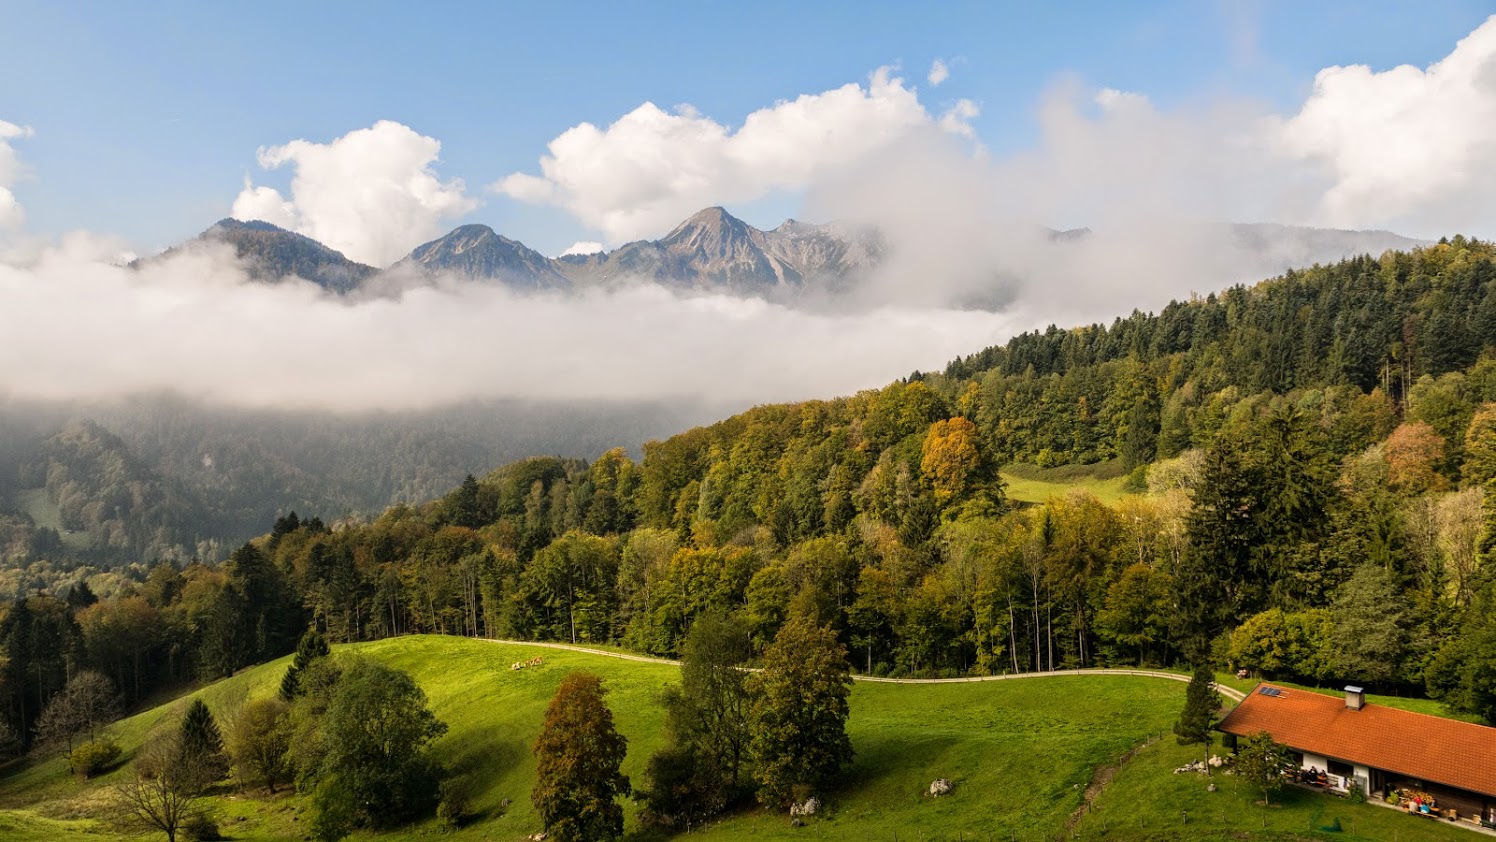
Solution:
{"label": "clear blue sky above the clouds and mountains", "polygon": [[[453,218],[557,253],[598,233],[560,206],[486,193],[536,172],[546,144],[643,102],[738,126],[776,100],[896,66],[932,114],[980,106],[1002,159],[1037,144],[1035,109],[1065,78],[1162,109],[1222,97],[1296,111],[1336,64],[1424,67],[1489,3],[0,3],[0,120],[27,229],[118,233],[139,250],[227,215],[242,179],[286,190],[256,150],[325,144],[390,120],[441,142],[435,169],[482,205]],[[950,79],[932,88],[936,58]],[[733,208],[755,224],[794,190]],[[663,232],[660,232],[663,233]]]}

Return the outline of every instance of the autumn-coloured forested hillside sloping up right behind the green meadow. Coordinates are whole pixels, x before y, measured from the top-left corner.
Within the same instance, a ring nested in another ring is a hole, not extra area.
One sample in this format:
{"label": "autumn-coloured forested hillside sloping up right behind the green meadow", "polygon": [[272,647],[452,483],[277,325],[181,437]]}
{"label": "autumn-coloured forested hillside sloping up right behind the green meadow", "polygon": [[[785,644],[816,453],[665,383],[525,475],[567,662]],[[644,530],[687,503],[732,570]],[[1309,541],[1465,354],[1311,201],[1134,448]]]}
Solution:
{"label": "autumn-coloured forested hillside sloping up right behind the green meadow", "polygon": [[[16,603],[9,718],[27,731],[64,661],[144,692],[308,622],[676,654],[708,609],[758,646],[811,616],[880,674],[1212,660],[1492,718],[1493,280],[1496,248],[1456,238],[758,407],[642,462],[527,459],[367,525],[281,517],[221,568]],[[1121,459],[1140,494],[1010,504],[1014,459]]]}

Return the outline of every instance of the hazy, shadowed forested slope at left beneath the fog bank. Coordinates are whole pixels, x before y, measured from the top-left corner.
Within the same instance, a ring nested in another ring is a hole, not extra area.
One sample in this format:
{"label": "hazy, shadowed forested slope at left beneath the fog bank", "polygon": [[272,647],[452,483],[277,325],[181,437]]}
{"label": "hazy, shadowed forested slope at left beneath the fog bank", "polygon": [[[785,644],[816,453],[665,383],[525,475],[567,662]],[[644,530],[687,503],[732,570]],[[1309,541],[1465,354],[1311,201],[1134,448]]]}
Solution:
{"label": "hazy, shadowed forested slope at left beneath the fog bank", "polygon": [[485,401],[375,414],[212,408],[169,396],[0,402],[0,595],[60,595],[100,570],[130,576],[132,565],[160,559],[217,562],[292,510],[377,514],[519,456],[637,449],[718,414],[658,401]]}

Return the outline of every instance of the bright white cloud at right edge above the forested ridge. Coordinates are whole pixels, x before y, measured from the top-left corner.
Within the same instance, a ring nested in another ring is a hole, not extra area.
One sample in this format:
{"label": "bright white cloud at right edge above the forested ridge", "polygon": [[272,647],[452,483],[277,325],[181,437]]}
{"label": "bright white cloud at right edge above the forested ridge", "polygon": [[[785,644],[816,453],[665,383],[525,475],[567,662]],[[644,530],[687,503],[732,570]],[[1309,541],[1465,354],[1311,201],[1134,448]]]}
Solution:
{"label": "bright white cloud at right edge above the forested ridge", "polygon": [[1337,226],[1496,230],[1496,16],[1426,70],[1325,67],[1279,150],[1322,168]]}

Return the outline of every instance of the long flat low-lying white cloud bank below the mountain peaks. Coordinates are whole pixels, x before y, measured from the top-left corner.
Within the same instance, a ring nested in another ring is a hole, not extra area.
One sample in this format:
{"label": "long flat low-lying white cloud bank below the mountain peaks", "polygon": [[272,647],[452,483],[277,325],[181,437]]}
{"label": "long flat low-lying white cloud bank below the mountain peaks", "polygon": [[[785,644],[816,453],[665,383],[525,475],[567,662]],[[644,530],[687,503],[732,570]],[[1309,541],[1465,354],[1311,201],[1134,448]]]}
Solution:
{"label": "long flat low-lying white cloud bank below the mountain peaks", "polygon": [[[571,298],[450,283],[347,301],[301,281],[251,283],[227,250],[138,271],[102,253],[63,245],[25,268],[0,265],[0,359],[30,360],[0,366],[0,395],[169,390],[337,410],[506,396],[751,404],[881,386],[1010,331],[989,313],[832,316],[649,284]],[[55,341],[61,320],[78,341]]]}

